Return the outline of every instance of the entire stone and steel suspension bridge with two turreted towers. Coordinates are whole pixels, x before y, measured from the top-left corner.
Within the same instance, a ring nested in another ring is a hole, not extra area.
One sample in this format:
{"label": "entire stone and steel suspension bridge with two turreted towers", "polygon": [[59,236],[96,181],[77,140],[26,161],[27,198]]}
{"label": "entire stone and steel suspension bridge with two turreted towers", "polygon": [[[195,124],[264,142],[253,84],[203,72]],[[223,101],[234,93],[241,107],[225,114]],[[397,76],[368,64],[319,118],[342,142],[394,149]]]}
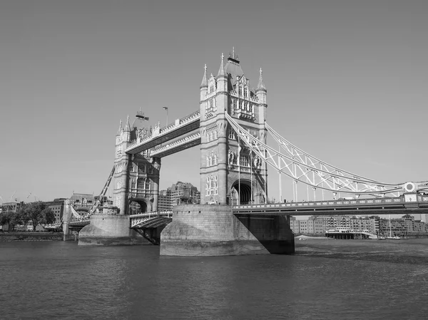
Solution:
{"label": "entire stone and steel suspension bridge with two turreted towers", "polygon": [[[205,205],[175,207],[172,215],[159,213],[161,159],[197,145],[200,202]],[[279,203],[268,202],[268,166],[279,176]],[[294,202],[281,203],[281,175],[292,182]],[[208,76],[205,65],[200,105],[194,113],[163,128],[159,123],[154,128],[137,128],[131,126],[129,117],[124,126],[119,125],[114,167],[102,194],[109,185],[121,226],[112,229],[118,223],[113,217],[105,221],[92,217],[95,206],[88,215],[91,224],[82,229],[85,237],[97,232],[107,237],[106,230],[120,234],[118,229],[133,237],[135,231],[152,243],[162,238],[161,253],[167,255],[192,255],[195,250],[200,250],[198,254],[292,252],[289,215],[428,212],[428,197],[422,197],[427,181],[391,184],[372,180],[315,158],[282,138],[267,123],[262,70],[257,87],[252,88],[234,51],[227,59],[222,54],[216,76]],[[297,202],[298,185],[313,191],[313,202]],[[322,200],[315,200],[317,190],[322,190]],[[324,192],[330,192],[333,200],[324,200]],[[335,200],[337,195],[351,195],[353,200]],[[138,215],[129,215],[131,205],[138,207]],[[162,234],[153,233],[163,227]],[[225,241],[228,244],[221,247]],[[238,245],[242,241],[243,247]],[[213,249],[217,245],[221,248]],[[207,246],[211,249],[203,251]]]}

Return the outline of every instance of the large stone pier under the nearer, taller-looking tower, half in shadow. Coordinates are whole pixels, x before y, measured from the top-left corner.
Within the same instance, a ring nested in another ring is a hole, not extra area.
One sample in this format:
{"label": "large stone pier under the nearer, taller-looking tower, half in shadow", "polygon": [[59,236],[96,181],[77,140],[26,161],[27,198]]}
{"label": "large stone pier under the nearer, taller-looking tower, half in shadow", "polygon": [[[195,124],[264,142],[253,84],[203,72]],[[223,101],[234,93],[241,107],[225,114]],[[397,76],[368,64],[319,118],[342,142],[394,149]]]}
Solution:
{"label": "large stone pier under the nearer, taller-looking tower, half in shadow", "polygon": [[163,256],[292,254],[287,217],[234,215],[230,205],[180,205],[161,233]]}

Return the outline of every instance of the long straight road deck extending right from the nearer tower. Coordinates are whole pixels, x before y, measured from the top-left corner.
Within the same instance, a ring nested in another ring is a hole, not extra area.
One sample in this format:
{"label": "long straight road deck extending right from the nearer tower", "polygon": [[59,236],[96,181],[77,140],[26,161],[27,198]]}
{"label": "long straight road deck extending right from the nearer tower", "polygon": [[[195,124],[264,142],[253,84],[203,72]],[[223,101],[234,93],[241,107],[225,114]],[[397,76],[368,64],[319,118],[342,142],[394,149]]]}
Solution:
{"label": "long straight road deck extending right from the nearer tower", "polygon": [[407,215],[428,213],[428,196],[234,205],[235,215]]}

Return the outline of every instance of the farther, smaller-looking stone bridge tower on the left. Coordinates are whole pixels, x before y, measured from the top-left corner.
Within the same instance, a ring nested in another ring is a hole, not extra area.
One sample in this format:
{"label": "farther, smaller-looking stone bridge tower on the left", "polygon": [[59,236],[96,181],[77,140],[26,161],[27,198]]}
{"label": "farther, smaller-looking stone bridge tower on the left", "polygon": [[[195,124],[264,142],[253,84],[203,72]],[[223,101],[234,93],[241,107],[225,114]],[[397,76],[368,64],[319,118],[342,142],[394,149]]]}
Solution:
{"label": "farther, smaller-looking stone bridge tower on the left", "polygon": [[149,158],[150,150],[136,155],[125,153],[131,141],[141,139],[141,131],[131,128],[128,116],[125,128],[121,121],[116,134],[113,205],[119,208],[121,215],[158,210],[161,158]]}

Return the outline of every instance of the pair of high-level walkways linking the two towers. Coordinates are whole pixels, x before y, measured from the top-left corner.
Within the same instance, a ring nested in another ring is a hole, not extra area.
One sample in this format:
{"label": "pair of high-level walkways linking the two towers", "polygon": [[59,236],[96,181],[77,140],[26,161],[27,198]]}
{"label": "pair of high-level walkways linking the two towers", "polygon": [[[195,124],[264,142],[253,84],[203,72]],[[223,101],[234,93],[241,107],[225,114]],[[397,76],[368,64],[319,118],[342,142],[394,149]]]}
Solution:
{"label": "pair of high-level walkways linking the two towers", "polygon": [[[126,148],[125,153],[135,155],[141,153],[144,150],[152,149],[151,156],[164,157],[176,153],[180,150],[191,148],[195,145],[200,144],[200,111],[196,111],[190,115],[186,115],[184,118],[175,120],[175,123],[160,128],[158,132],[153,131],[152,135],[144,138],[143,140],[137,140]],[[185,137],[185,135],[188,135]],[[175,139],[181,138],[178,141]],[[163,145],[158,149],[153,149],[162,143],[171,142],[168,145]]]}

